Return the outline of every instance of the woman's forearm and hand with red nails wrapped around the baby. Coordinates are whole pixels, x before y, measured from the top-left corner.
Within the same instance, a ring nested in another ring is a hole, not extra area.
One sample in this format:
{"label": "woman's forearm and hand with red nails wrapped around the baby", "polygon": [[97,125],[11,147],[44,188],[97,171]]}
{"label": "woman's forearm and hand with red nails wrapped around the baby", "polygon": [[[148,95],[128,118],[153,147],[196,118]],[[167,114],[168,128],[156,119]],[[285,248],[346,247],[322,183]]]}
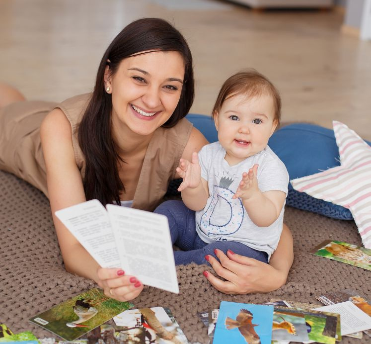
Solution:
{"label": "woman's forearm and hand with red nails wrapped around the baby", "polygon": [[277,250],[269,264],[259,260],[227,252],[217,252],[216,258],[210,257],[210,264],[215,272],[226,281],[205,271],[209,282],[225,294],[248,294],[252,292],[270,292],[286,283],[291,265],[294,261],[293,237],[289,227],[283,226]]}

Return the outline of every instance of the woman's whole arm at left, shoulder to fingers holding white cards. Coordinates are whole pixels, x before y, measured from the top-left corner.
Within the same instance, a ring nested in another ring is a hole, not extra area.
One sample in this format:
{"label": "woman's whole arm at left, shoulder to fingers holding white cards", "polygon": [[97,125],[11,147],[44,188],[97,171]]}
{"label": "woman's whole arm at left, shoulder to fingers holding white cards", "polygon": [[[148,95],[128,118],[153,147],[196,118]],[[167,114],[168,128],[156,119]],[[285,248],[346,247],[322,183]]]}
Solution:
{"label": "woman's whole arm at left, shoulder to fingers holding white cards", "polygon": [[46,116],[40,128],[40,136],[50,207],[66,270],[94,280],[104,289],[107,296],[120,301],[135,298],[142,291],[143,284],[138,285],[138,281],[130,282],[133,276],[125,275],[121,269],[101,268],[54,215],[56,210],[86,200],[74,158],[71,125],[62,110],[55,109]]}

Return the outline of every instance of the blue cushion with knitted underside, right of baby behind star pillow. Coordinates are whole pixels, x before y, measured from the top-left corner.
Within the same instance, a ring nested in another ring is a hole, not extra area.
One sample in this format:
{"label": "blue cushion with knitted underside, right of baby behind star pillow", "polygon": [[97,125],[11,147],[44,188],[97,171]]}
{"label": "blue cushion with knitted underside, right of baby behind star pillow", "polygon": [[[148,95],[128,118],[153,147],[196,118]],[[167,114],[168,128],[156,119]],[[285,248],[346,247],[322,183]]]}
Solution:
{"label": "blue cushion with knitted underside, right of baby behind star pillow", "polygon": [[[290,124],[277,130],[268,145],[286,165],[290,179],[340,166],[334,131],[318,125]],[[348,209],[298,192],[290,183],[286,204],[335,219],[353,219]]]}

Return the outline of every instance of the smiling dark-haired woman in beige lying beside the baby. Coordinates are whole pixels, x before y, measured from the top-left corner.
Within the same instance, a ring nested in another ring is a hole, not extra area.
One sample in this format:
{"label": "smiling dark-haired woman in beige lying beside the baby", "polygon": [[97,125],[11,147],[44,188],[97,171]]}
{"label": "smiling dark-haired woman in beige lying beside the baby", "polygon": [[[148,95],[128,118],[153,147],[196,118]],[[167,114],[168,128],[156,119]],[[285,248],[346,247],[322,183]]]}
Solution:
{"label": "smiling dark-haired woman in beige lying beside the baby", "polygon": [[[22,95],[6,86],[0,93],[0,169],[41,189],[53,214],[93,198],[151,211],[168,182],[179,177],[179,158],[190,159],[207,143],[183,118],[194,97],[189,47],[162,19],[136,20],[117,35],[101,60],[92,94],[54,104],[18,101]],[[135,276],[99,267],[53,219],[68,271],[93,279],[120,301],[141,293]],[[292,247],[285,227],[271,265],[217,252],[220,261],[210,263],[227,281],[205,275],[226,293],[275,290],[286,281]]]}

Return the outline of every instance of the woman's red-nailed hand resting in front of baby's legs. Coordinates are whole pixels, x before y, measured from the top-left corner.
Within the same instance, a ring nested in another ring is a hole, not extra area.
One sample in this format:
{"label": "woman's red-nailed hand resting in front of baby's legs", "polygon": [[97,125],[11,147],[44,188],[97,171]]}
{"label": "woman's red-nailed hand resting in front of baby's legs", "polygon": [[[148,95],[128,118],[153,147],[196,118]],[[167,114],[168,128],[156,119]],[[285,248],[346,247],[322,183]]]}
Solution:
{"label": "woman's red-nailed hand resting in front of baby's legs", "polygon": [[209,263],[215,272],[226,281],[208,271],[204,275],[219,291],[225,294],[248,294],[253,292],[270,292],[286,282],[288,271],[279,270],[262,261],[234,254],[227,251],[227,256],[217,250],[218,261],[209,256]]}

